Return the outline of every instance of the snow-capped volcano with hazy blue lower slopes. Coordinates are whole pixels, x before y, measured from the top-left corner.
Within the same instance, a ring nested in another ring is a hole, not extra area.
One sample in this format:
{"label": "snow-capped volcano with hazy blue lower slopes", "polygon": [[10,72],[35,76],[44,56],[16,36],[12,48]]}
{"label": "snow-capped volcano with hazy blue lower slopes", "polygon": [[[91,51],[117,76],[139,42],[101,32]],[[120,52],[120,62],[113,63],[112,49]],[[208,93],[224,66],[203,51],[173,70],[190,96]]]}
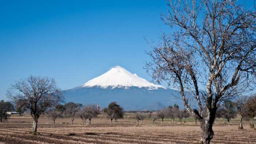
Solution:
{"label": "snow-capped volcano with hazy blue lower slopes", "polygon": [[172,94],[178,95],[178,91],[150,83],[122,67],[114,67],[81,86],[66,90],[65,95],[67,102],[95,103],[103,108],[116,101],[125,110],[142,110],[155,101],[173,105],[168,99]]}

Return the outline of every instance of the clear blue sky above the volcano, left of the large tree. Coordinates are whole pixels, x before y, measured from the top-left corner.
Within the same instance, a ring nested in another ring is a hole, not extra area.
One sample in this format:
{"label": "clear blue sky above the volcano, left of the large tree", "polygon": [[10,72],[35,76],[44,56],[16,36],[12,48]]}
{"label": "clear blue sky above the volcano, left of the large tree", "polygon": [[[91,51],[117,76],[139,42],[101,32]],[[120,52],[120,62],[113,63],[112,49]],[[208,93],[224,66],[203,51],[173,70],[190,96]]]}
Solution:
{"label": "clear blue sky above the volcano, left of the large tree", "polygon": [[0,100],[15,80],[55,78],[80,86],[117,65],[150,81],[143,62],[163,24],[165,0],[0,1]]}

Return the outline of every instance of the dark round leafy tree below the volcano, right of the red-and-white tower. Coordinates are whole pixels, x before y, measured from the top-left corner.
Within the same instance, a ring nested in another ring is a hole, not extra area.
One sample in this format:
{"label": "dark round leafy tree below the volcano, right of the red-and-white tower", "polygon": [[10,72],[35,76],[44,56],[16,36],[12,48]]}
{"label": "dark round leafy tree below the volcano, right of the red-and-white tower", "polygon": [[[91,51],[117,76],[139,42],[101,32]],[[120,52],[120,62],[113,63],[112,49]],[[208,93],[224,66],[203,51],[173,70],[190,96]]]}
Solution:
{"label": "dark round leafy tree below the volcano, right of the red-and-white tower", "polygon": [[110,124],[112,124],[112,120],[114,117],[120,117],[123,118],[123,107],[120,105],[117,105],[117,102],[111,102],[109,103],[107,108],[104,108],[104,113],[107,113],[110,117]]}

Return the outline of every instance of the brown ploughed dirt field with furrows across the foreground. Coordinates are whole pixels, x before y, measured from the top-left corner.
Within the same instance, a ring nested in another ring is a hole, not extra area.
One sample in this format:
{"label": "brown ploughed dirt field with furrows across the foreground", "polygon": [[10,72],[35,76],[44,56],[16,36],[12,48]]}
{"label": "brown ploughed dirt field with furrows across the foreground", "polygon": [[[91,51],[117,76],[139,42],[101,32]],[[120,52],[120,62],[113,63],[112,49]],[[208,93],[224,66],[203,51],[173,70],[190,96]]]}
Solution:
{"label": "brown ploughed dirt field with furrows across the foreground", "polygon": [[[118,120],[110,125],[110,120],[102,118],[92,119],[91,125],[82,125],[79,118],[74,125],[70,125],[68,118],[55,122],[40,118],[38,133],[29,134],[31,117],[11,117],[0,123],[0,144],[197,144],[200,140],[199,123],[194,122],[180,125],[157,121],[151,125],[152,121],[143,121],[136,125],[135,120]],[[238,130],[237,123],[221,125],[219,121],[213,130],[211,144],[256,144],[256,129],[249,128],[247,123],[244,130]]]}

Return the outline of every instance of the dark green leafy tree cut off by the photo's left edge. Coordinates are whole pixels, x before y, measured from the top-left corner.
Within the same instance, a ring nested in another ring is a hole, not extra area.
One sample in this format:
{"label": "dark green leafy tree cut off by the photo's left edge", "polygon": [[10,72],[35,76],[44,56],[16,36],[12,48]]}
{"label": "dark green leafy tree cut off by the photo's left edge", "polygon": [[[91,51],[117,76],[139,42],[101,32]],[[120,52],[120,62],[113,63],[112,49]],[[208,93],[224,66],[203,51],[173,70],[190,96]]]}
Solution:
{"label": "dark green leafy tree cut off by the photo's left edge", "polygon": [[14,109],[14,105],[11,102],[4,102],[4,100],[0,101],[0,122],[3,121],[3,118],[7,120],[10,116],[7,114],[8,111],[12,111]]}

